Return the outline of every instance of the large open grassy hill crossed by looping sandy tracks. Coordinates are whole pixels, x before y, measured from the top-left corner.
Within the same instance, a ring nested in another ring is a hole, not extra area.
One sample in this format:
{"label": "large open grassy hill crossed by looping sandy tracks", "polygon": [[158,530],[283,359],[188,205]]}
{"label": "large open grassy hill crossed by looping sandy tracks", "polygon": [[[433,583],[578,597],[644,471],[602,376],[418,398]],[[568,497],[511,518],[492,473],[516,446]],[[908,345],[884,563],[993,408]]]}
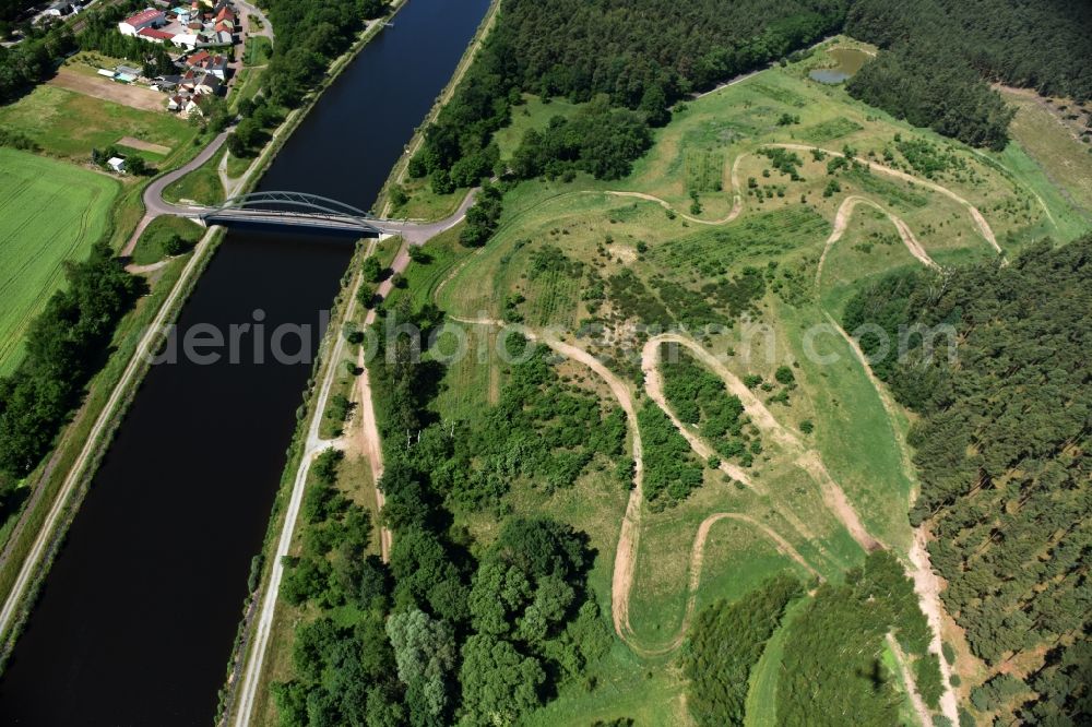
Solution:
{"label": "large open grassy hill crossed by looping sandy tracks", "polygon": [[[695,613],[778,573],[838,584],[877,544],[909,562],[905,513],[917,487],[910,416],[833,323],[856,290],[891,271],[1010,258],[1044,236],[1069,240],[1092,228],[1079,210],[1083,166],[1058,175],[1060,142],[1022,130],[1035,121],[1029,111],[1005,152],[978,152],[807,79],[829,62],[820,50],[682,103],[628,177],[521,183],[506,193],[488,246],[460,253],[449,242],[407,272],[415,300],[431,297],[455,321],[475,322],[472,349],[491,349],[501,321],[525,326],[565,359],[566,381],[637,410],[655,402],[680,416],[670,388],[664,401],[650,383],[672,367],[649,346],[677,330],[698,365],[743,401],[743,432],[756,443],[746,462],[707,456],[732,448],[709,439],[703,421],[676,422],[685,440],[642,424],[643,500],[639,487],[619,488],[604,472],[551,493],[511,485],[507,513],[549,513],[589,534],[589,584],[603,613],[615,611],[615,644],[590,678],[596,686],[563,686],[530,724],[687,724],[677,666]],[[502,158],[525,129],[573,108],[527,97],[496,136]],[[573,358],[580,350],[605,369]],[[509,373],[473,356],[452,364],[437,415],[475,419],[499,401]],[[692,481],[667,504],[650,485],[661,446],[685,452],[678,460]],[[625,525],[633,498],[641,514]],[[489,512],[455,519],[474,541],[496,537]],[[639,545],[619,600],[616,558],[627,538]],[[779,724],[787,698],[778,665],[800,658],[791,625],[817,611],[812,604],[788,608],[751,671],[747,724]],[[875,643],[876,668],[899,695],[897,720],[914,724],[914,686],[894,652]]]}

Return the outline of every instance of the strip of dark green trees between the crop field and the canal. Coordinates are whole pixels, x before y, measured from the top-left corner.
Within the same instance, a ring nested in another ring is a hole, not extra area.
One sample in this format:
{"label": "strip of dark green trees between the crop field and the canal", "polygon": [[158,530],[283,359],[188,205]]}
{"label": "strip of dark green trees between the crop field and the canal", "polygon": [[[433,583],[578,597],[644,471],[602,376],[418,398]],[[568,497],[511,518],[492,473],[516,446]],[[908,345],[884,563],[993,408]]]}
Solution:
{"label": "strip of dark green trees between the crop field and the canal", "polygon": [[105,361],[114,326],[144,291],[105,242],[66,265],[68,286],[52,295],[26,334],[26,356],[0,378],[0,492],[34,469]]}

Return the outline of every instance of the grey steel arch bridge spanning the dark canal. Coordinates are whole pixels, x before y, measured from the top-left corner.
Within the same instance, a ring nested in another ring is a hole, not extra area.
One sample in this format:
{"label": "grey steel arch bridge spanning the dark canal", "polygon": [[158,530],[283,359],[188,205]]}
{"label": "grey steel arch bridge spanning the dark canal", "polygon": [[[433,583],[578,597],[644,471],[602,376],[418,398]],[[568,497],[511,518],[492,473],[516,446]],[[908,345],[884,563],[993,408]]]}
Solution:
{"label": "grey steel arch bridge spanning the dark canal", "polygon": [[205,224],[284,225],[378,235],[382,227],[371,214],[351,204],[305,192],[251,192],[206,207],[199,215]]}

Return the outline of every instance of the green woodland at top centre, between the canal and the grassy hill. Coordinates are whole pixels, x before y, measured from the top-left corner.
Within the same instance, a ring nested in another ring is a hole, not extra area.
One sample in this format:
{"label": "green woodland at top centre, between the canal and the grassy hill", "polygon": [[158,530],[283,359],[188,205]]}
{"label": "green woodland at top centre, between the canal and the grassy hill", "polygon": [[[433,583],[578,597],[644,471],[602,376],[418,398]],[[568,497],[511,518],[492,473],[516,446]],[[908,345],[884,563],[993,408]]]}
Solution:
{"label": "green woodland at top centre, between the canal and the grassy hill", "polygon": [[428,128],[410,174],[477,183],[495,170],[492,132],[508,123],[523,93],[533,93],[593,103],[573,119],[529,131],[510,170],[517,178],[578,169],[601,179],[625,176],[650,146],[650,127],[670,118],[672,104],[814,43],[840,27],[844,5],[510,0]]}

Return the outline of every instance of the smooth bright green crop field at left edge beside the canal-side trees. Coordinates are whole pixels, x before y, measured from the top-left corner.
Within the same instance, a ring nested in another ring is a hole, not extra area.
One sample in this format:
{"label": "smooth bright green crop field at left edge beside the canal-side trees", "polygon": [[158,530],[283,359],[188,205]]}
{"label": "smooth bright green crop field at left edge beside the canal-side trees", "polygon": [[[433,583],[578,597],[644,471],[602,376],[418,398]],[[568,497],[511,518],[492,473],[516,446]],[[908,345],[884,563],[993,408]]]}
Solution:
{"label": "smooth bright green crop field at left edge beside the canal-side trees", "polygon": [[105,175],[0,148],[0,373],[21,358],[23,334],[109,227],[120,184]]}

